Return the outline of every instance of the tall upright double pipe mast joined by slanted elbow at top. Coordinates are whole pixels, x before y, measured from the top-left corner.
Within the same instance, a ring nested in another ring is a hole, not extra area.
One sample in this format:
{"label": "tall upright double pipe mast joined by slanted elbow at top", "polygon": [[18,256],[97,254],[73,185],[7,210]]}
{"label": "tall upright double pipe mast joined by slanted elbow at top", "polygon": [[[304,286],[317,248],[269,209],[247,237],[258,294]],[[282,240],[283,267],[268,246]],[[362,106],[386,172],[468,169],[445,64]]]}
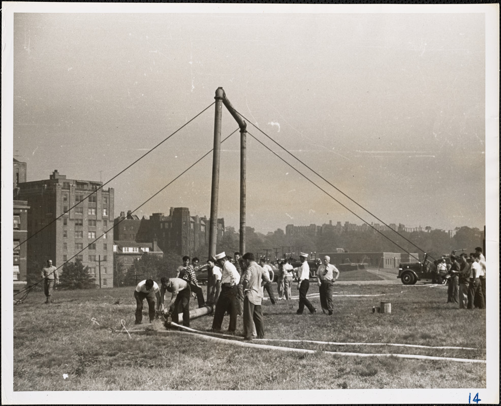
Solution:
{"label": "tall upright double pipe mast joined by slanted elbow at top", "polygon": [[219,169],[221,159],[221,117],[222,104],[240,127],[240,252],[245,252],[245,176],[246,176],[246,142],[247,123],[233,108],[230,100],[222,87],[218,87],[215,93],[215,117],[214,117],[214,150],[212,153],[212,190],[210,198],[210,230],[209,230],[209,256],[216,254],[217,244],[217,202],[219,196]]}

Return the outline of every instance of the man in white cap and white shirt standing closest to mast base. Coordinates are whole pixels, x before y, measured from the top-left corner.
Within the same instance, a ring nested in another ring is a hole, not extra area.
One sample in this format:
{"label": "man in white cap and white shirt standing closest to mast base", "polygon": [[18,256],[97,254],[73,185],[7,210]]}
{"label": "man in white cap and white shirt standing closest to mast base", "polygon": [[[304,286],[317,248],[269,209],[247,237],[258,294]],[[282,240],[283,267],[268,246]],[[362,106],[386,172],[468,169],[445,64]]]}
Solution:
{"label": "man in white cap and white shirt standing closest to mast base", "polygon": [[238,316],[238,289],[237,285],[240,282],[240,275],[238,274],[237,268],[233,265],[226,254],[222,252],[217,254],[214,259],[216,260],[216,265],[221,267],[222,277],[221,277],[221,294],[216,303],[216,308],[214,310],[214,319],[212,320],[212,330],[221,331],[221,325],[223,324],[223,319],[225,318],[225,313],[228,312],[230,315],[230,325],[228,326],[228,332],[230,334],[235,334],[237,329],[237,316]]}

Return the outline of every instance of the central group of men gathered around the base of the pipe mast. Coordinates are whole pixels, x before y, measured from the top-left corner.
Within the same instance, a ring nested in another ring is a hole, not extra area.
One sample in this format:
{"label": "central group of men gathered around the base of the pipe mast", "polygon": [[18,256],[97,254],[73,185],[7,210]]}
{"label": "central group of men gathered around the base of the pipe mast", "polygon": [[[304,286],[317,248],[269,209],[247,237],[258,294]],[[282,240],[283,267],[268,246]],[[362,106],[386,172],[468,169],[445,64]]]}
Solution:
{"label": "central group of men gathered around the base of the pipe mast", "polygon": [[[280,264],[281,281],[284,283],[281,292],[286,299],[291,299],[291,285],[296,277],[299,290],[299,308],[297,314],[302,314],[306,307],[311,314],[317,309],[307,299],[309,289],[310,269],[307,262],[308,254],[301,253],[301,265],[293,268],[286,259]],[[136,324],[142,322],[142,306],[144,299],[148,302],[148,315],[150,322],[154,320],[156,311],[164,309],[165,293],[171,292],[170,302],[165,306],[172,321],[179,322],[178,314],[182,312],[183,325],[190,325],[190,297],[197,296],[199,308],[207,304],[215,304],[214,318],[211,331],[220,332],[225,315],[230,316],[228,333],[235,334],[237,317],[243,316],[243,335],[245,340],[253,337],[264,337],[264,317],[261,308],[264,289],[266,288],[271,302],[274,304],[274,295],[271,289],[273,270],[268,268],[267,261],[260,259],[256,262],[254,254],[248,252],[240,256],[234,254],[235,263],[225,252],[215,255],[207,260],[207,265],[197,266],[198,258],[183,257],[183,265],[177,269],[176,278],[162,278],[161,286],[151,279],[140,282],[134,292],[136,298]],[[326,256],[324,263],[317,270],[317,283],[320,290],[320,302],[324,314],[332,315],[334,308],[332,302],[332,286],[339,277],[339,271],[329,263]],[[195,270],[208,267],[207,303],[203,298]],[[155,301],[156,298],[156,301]],[[156,307],[155,307],[156,302]],[[156,309],[155,309],[156,308]]]}

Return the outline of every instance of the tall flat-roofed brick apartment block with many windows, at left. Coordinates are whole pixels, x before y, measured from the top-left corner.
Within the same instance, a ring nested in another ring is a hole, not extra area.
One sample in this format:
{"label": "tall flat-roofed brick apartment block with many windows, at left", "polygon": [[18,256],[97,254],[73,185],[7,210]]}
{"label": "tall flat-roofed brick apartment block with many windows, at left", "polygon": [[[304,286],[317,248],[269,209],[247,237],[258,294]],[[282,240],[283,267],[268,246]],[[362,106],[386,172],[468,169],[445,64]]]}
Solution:
{"label": "tall flat-roofed brick apartment block with many windows, at left", "polygon": [[[113,226],[114,190],[99,189],[101,186],[102,182],[67,179],[57,170],[49,179],[18,183],[17,196],[30,207],[29,263],[42,267],[50,258],[59,267],[79,258],[93,277],[100,265],[102,287],[113,286],[113,240],[107,231]],[[96,193],[85,199],[93,191]]]}

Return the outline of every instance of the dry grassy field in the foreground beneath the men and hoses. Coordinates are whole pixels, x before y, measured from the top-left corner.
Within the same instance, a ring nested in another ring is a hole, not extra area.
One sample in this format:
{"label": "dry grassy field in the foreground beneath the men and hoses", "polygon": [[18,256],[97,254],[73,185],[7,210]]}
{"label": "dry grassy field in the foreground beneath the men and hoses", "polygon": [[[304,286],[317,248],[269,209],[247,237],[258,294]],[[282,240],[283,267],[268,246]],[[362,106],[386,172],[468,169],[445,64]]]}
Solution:
{"label": "dry grassy field in the foreground beneath the men and hoses", "polygon": [[[276,288],[276,285],[274,284]],[[314,354],[242,348],[191,333],[119,332],[134,328],[133,287],[56,291],[45,305],[31,293],[14,307],[14,391],[279,390],[366,388],[484,388],[486,365],[448,360],[359,357],[327,352],[416,354],[483,359],[485,313],[447,304],[447,288],[335,285],[334,315],[296,315],[298,300],[263,302],[267,339],[336,343],[393,343],[475,350],[335,345],[284,341],[252,343],[317,350]],[[205,290],[205,289],[204,289]],[[318,292],[316,283],[308,293]],[[205,293],[205,292],[204,292]],[[297,295],[297,290],[293,291]],[[266,293],[265,293],[266,295]],[[390,314],[372,313],[381,301]],[[196,300],[192,300],[196,307]],[[145,302],[146,306],[146,302]],[[144,313],[143,322],[147,321]],[[223,327],[228,326],[229,316]],[[191,321],[206,330],[212,316]],[[466,328],[466,326],[468,328]],[[242,330],[239,317],[237,332]],[[62,375],[66,374],[66,379]]]}

